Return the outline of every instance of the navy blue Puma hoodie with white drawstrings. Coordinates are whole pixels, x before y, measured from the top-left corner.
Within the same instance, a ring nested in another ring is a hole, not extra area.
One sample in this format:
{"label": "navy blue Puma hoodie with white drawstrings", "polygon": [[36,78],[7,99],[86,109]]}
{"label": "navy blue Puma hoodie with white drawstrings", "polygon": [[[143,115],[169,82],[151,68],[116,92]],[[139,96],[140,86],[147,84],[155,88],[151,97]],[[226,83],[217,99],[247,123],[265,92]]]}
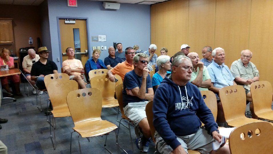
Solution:
{"label": "navy blue Puma hoodie with white drawstrings", "polygon": [[167,145],[175,149],[181,145],[176,136],[197,132],[201,121],[209,134],[217,131],[218,125],[197,86],[189,82],[179,86],[170,78],[169,73],[155,91],[153,125]]}

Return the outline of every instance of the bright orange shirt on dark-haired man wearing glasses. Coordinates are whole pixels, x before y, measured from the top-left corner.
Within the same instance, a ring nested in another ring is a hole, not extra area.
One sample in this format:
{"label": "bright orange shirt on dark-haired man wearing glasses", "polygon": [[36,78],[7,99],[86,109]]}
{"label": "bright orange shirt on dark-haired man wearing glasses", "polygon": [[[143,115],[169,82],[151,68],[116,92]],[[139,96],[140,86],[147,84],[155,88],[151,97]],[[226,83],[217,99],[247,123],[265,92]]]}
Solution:
{"label": "bright orange shirt on dark-haired man wearing glasses", "polygon": [[118,65],[110,69],[110,71],[112,72],[113,75],[115,74],[119,75],[123,81],[125,74],[129,71],[132,71],[133,69],[134,69],[134,65],[130,65],[126,60],[122,63],[118,63]]}

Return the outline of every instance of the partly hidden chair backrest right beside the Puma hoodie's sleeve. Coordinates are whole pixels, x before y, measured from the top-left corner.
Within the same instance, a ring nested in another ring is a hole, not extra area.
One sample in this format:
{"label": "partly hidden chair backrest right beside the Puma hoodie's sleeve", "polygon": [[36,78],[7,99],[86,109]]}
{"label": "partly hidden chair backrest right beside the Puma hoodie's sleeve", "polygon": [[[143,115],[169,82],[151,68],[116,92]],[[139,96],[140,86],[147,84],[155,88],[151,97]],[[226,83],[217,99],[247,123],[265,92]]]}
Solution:
{"label": "partly hidden chair backrest right beside the Puma hoodie's sleeve", "polygon": [[206,105],[209,107],[209,109],[211,110],[214,120],[216,121],[216,117],[217,117],[217,100],[216,100],[216,96],[212,91],[209,90],[203,90],[201,91],[201,94],[204,98],[204,101],[206,103]]}

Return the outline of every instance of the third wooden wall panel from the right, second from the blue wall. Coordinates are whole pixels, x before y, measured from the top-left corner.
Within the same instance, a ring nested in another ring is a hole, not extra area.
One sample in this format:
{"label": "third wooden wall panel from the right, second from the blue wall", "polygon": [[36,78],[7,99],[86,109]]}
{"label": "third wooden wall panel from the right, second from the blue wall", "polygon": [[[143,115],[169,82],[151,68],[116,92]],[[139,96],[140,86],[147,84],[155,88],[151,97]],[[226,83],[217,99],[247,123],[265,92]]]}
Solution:
{"label": "third wooden wall panel from the right, second from the blue wall", "polygon": [[[201,58],[205,46],[214,47],[216,0],[189,1],[189,42],[190,52]],[[184,44],[184,43],[183,43]]]}

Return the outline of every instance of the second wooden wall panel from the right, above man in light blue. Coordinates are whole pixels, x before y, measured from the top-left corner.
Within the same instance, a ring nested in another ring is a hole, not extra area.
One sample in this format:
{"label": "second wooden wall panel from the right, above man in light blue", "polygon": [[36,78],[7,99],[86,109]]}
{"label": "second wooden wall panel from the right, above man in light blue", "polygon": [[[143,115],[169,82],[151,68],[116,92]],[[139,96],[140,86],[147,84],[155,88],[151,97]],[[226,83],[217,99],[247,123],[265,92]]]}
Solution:
{"label": "second wooden wall panel from the right, above man in light blue", "polygon": [[216,1],[215,48],[225,49],[228,67],[248,48],[250,7],[250,0]]}

